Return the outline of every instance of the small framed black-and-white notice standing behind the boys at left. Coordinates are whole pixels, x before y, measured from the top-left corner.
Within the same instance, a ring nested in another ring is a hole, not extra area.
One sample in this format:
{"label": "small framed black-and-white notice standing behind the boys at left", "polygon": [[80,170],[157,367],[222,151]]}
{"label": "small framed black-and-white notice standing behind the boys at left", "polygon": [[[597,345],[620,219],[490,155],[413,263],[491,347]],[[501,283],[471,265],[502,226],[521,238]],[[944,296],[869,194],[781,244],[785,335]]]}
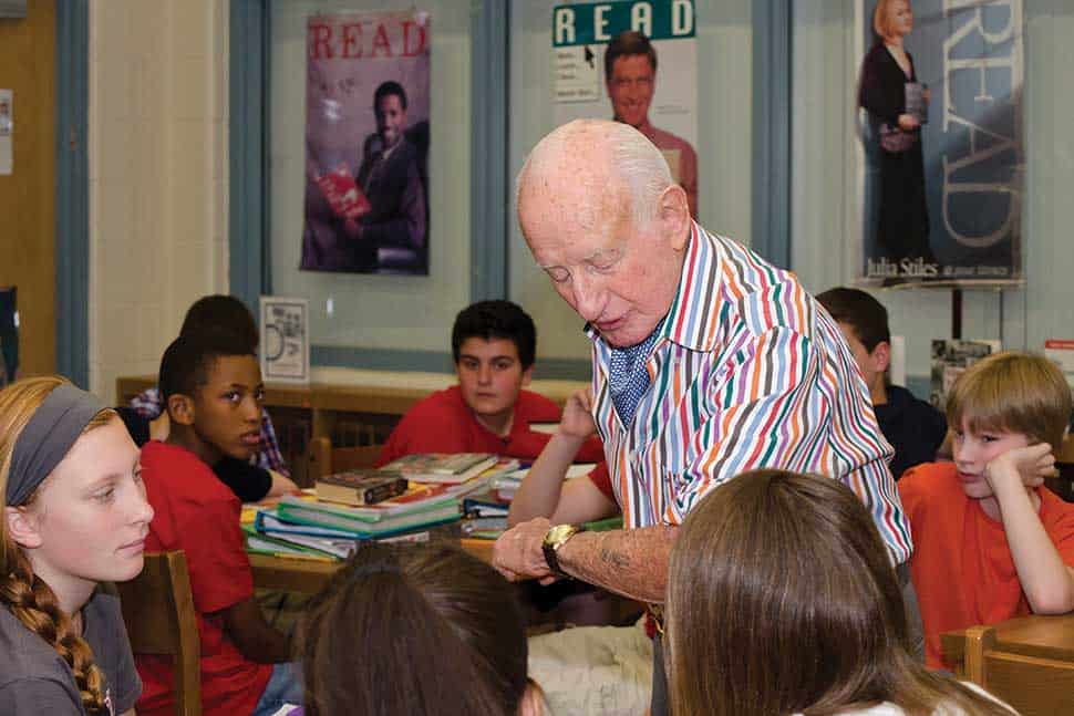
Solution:
{"label": "small framed black-and-white notice standing behind the boys at left", "polygon": [[262,295],[260,302],[261,380],[309,383],[309,301]]}

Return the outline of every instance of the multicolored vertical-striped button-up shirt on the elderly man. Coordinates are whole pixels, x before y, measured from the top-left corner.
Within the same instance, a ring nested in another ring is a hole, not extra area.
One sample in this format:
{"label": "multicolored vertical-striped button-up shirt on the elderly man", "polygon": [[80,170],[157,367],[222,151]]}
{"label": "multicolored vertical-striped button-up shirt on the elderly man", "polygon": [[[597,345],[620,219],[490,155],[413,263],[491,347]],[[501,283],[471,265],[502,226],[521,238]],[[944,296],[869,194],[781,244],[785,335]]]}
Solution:
{"label": "multicolored vertical-striped button-up shirt on the elderly man", "polygon": [[628,527],[679,525],[710,489],[772,467],[843,480],[895,562],[912,550],[894,450],[838,326],[789,271],[698,225],[633,419],[619,421],[592,328],[593,417]]}

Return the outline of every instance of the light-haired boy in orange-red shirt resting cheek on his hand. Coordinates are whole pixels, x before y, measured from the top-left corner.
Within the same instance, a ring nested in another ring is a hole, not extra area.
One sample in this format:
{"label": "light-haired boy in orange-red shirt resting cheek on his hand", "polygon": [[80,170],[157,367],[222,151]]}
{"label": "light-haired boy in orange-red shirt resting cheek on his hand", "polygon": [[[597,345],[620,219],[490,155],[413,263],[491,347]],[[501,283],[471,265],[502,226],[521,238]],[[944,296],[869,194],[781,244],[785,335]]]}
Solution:
{"label": "light-haired boy in orange-red shirt resting cheek on his hand", "polygon": [[947,416],[954,463],[912,468],[898,488],[926,662],[951,670],[942,632],[1074,610],[1074,505],[1041,486],[1054,474],[1071,390],[1050,361],[1006,351],[959,376]]}

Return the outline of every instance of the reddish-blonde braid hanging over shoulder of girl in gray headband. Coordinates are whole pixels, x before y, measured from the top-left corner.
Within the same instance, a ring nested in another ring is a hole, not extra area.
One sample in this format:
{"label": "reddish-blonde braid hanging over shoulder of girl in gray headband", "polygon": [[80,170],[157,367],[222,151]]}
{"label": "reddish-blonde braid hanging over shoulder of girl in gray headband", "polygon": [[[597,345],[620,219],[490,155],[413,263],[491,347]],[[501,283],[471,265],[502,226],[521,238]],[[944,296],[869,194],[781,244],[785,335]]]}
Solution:
{"label": "reddish-blonde braid hanging over shoulder of girl in gray headband", "polygon": [[52,589],[33,574],[21,551],[14,549],[13,556],[13,569],[0,580],[0,600],[68,663],[86,713],[106,714],[104,676],[93,663],[93,650],[71,629],[71,620],[60,609]]}

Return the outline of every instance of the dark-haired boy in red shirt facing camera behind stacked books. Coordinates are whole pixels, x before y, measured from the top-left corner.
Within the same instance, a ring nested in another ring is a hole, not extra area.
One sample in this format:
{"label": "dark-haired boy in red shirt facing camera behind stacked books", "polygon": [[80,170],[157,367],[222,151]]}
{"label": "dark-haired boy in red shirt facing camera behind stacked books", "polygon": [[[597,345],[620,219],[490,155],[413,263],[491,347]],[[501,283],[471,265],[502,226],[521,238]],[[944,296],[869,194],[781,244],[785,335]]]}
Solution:
{"label": "dark-haired boy in red shirt facing camera behind stacked books", "polygon": [[[510,301],[479,301],[459,311],[452,328],[458,385],[433,393],[412,407],[381,450],[378,466],[413,453],[493,453],[536,459],[551,439],[535,423],[559,423],[560,409],[524,390],[534,373],[537,330]],[[581,486],[586,499],[615,513],[618,506],[600,440],[580,443],[567,458],[600,463]]]}

